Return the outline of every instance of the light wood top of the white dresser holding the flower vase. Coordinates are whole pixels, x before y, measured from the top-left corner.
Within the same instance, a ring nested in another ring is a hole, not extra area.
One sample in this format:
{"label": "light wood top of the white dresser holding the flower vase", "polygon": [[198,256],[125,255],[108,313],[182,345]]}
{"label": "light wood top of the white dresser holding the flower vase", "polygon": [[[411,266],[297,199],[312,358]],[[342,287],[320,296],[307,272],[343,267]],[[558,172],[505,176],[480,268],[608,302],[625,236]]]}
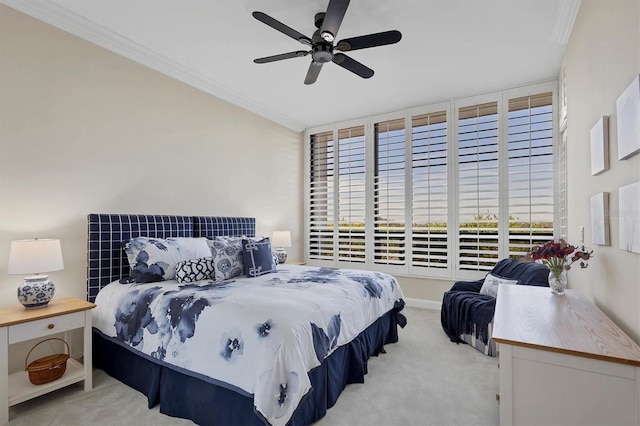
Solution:
{"label": "light wood top of the white dresser holding the flower vase", "polygon": [[493,340],[640,366],[640,347],[575,290],[504,285],[498,291]]}

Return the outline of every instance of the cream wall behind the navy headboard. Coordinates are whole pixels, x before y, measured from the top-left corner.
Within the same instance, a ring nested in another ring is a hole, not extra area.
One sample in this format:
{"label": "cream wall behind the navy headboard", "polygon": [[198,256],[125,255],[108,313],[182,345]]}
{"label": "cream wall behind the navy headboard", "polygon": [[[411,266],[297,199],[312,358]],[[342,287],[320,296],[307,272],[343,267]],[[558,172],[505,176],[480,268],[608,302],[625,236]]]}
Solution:
{"label": "cream wall behind the navy headboard", "polygon": [[85,298],[88,213],[254,216],[301,258],[301,133],[2,5],[0,41],[0,306],[20,238],[59,238],[55,297]]}

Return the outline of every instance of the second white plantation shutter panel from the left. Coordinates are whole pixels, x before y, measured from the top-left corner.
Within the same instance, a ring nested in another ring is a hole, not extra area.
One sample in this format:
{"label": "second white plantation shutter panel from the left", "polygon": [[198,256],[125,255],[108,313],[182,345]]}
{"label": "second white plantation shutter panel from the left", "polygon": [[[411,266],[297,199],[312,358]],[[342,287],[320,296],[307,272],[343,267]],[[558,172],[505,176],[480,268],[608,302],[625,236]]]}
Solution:
{"label": "second white plantation shutter panel from the left", "polygon": [[364,126],[338,130],[338,260],[365,261]]}

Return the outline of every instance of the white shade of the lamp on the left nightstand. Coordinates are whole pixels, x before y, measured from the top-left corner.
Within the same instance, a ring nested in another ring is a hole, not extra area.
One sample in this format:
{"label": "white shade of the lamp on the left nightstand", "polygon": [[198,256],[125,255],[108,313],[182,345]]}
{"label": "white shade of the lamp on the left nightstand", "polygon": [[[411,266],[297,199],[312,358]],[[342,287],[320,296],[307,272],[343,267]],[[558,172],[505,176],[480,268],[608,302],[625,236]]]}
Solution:
{"label": "white shade of the lamp on the left nightstand", "polygon": [[11,241],[9,274],[37,274],[64,269],[60,240],[32,239]]}

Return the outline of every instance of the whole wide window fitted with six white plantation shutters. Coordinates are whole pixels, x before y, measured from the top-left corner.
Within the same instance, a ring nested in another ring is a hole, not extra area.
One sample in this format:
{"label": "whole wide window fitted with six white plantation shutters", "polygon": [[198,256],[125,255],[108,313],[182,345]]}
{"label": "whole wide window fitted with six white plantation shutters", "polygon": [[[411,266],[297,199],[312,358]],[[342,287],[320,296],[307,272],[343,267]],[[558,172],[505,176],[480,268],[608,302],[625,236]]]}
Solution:
{"label": "whole wide window fitted with six white plantation shutters", "polygon": [[556,86],[308,130],[310,263],[466,278],[552,239]]}

